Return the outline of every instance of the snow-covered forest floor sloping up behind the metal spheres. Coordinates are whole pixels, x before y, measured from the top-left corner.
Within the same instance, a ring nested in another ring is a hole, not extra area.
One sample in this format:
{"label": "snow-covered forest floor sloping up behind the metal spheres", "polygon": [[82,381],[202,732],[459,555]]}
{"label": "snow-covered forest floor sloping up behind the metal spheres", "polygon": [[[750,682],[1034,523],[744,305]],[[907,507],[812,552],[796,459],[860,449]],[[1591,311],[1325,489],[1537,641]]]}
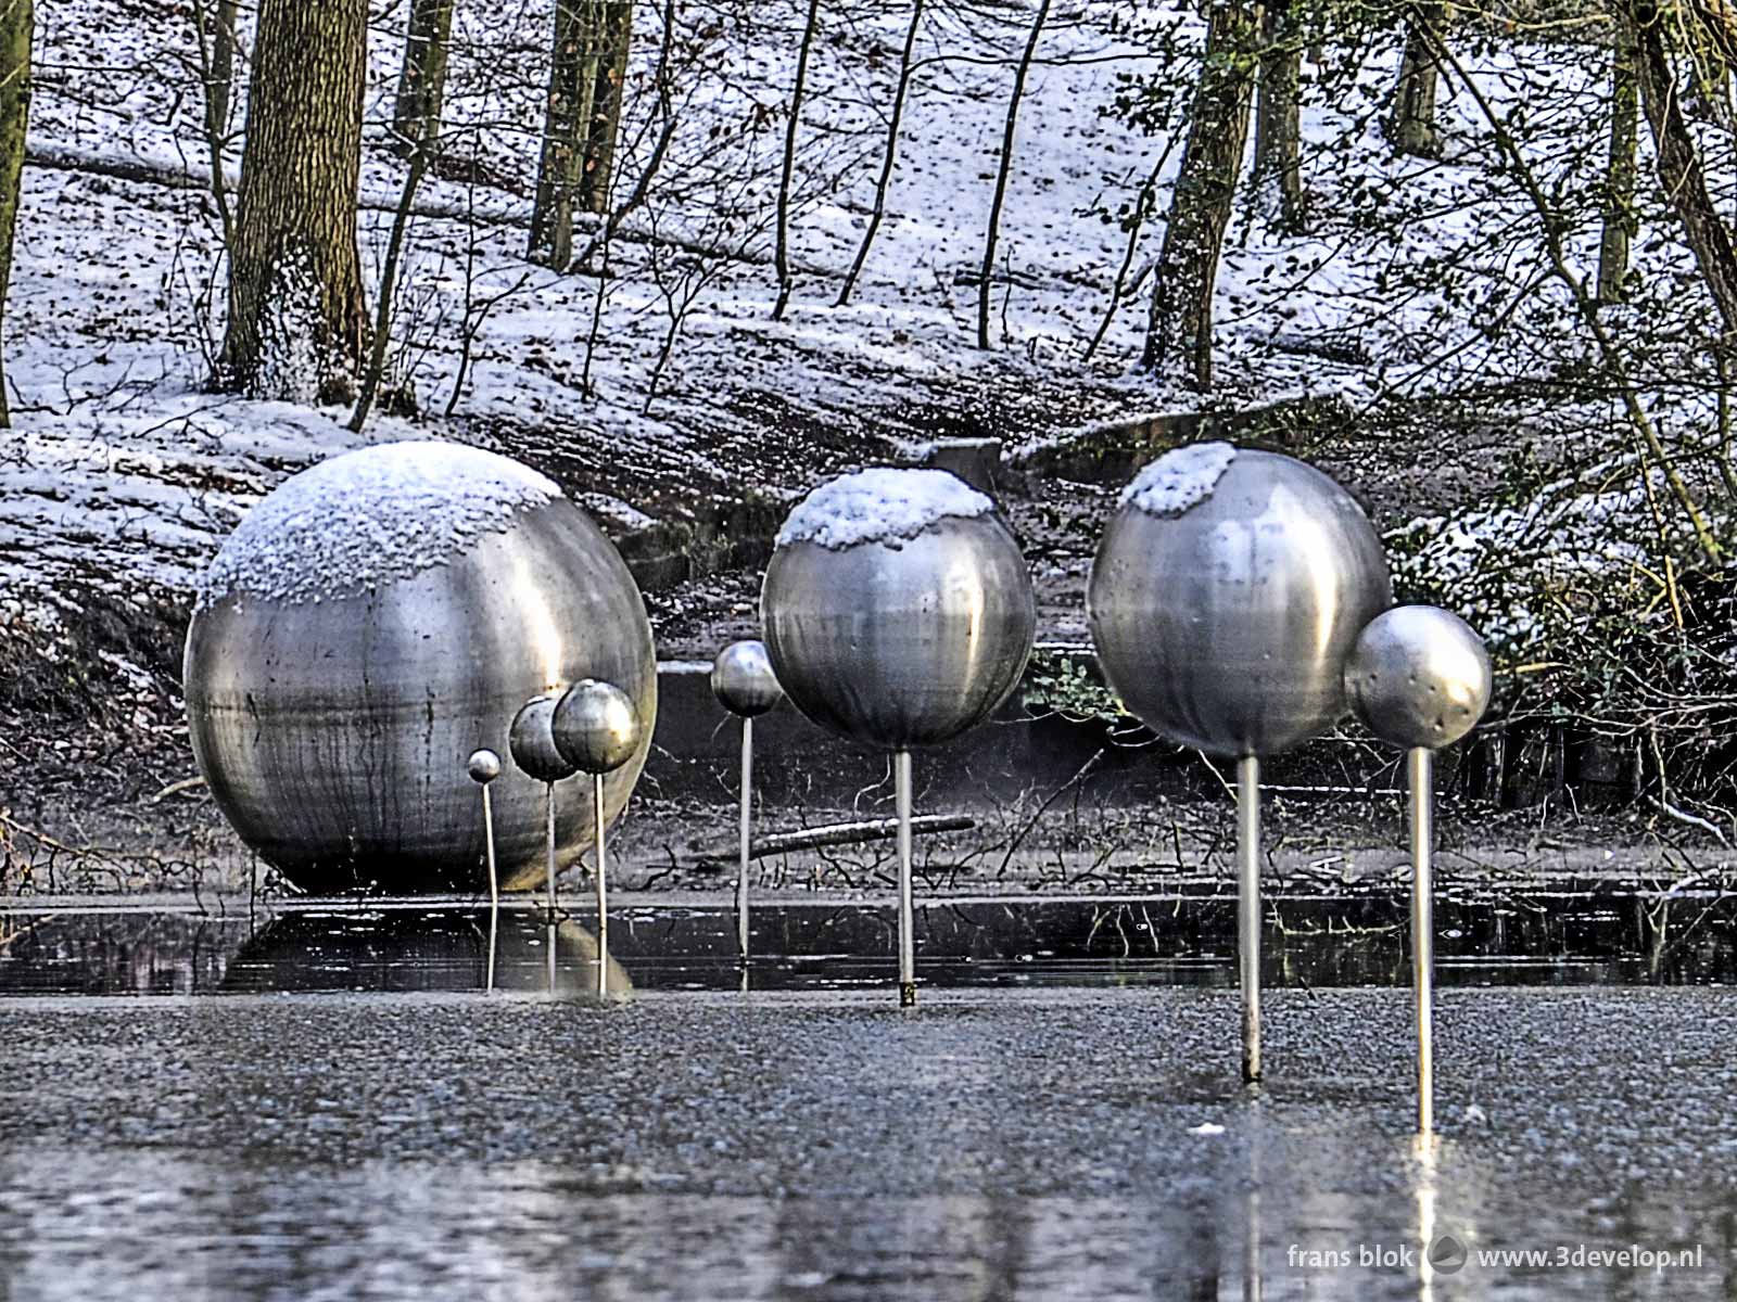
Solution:
{"label": "snow-covered forest floor sloping up behind the metal spheres", "polygon": [[[769,83],[782,85],[799,9],[721,5],[733,26],[709,40],[728,47],[726,64],[769,68]],[[679,526],[688,552],[650,587],[648,606],[660,656],[707,660],[757,630],[769,529],[797,496],[856,465],[919,464],[936,439],[1001,441],[1011,469],[1002,500],[1039,582],[1039,639],[1077,646],[1091,550],[1120,481],[1073,477],[1065,458],[1046,455],[1094,431],[1176,418],[1183,434],[1202,411],[1301,403],[1296,420],[1254,436],[1334,474],[1388,535],[1489,505],[1518,457],[1548,469],[1605,437],[1603,417],[1525,380],[1497,377],[1478,401],[1395,385],[1390,363],[1423,370],[1414,337],[1433,330],[1426,306],[1388,325],[1351,321],[1344,307],[1391,255],[1388,243],[1370,236],[1344,255],[1322,231],[1299,253],[1296,241],[1270,234],[1258,196],[1237,219],[1221,278],[1230,311],[1209,403],[1131,370],[1139,295],[1086,359],[1127,240],[1096,208],[1138,187],[1153,165],[1174,172],[1164,141],[1105,113],[1117,78],[1145,57],[1117,35],[1112,9],[1084,5],[1046,36],[1049,62],[1034,73],[1021,115],[990,349],[973,347],[974,278],[1006,61],[1023,40],[1020,10],[997,23],[948,19],[933,35],[931,54],[957,66],[912,102],[902,146],[912,161],[900,168],[882,241],[846,307],[832,302],[872,200],[872,168],[849,170],[839,151],[874,156],[872,109],[903,19],[863,5],[816,52],[818,144],[801,160],[809,187],[794,222],[797,295],[778,323],[769,319],[764,222],[743,234],[719,217],[731,186],[743,187],[730,191],[738,207],[764,200],[766,151],[778,132],[740,128],[749,92],[721,82],[716,94],[697,94],[700,144],[667,165],[667,205],[624,227],[606,274],[558,276],[523,257],[528,200],[514,177],[532,174],[535,134],[493,125],[525,118],[540,83],[532,73],[512,82],[478,54],[486,52],[479,33],[460,33],[474,43],[469,64],[455,62],[452,113],[469,123],[474,167],[466,181],[431,181],[419,203],[396,359],[415,410],[377,415],[361,436],[346,429],[342,410],[205,389],[221,332],[222,243],[200,187],[205,148],[184,21],[156,0],[45,10],[7,309],[16,427],[0,432],[0,892],[177,887],[207,871],[233,884],[245,871],[238,844],[193,783],[179,696],[191,585],[252,502],[363,443],[446,437],[518,457],[551,474],[624,549],[637,540],[655,550]],[[653,7],[639,10],[643,23],[655,19]],[[516,33],[514,57],[535,57],[538,14],[521,5],[490,19]],[[370,278],[401,175],[380,130],[400,47],[394,21],[380,23],[361,184]],[[655,38],[643,45],[655,49]],[[648,59],[636,54],[636,85]],[[1372,83],[1388,75],[1370,69]],[[1343,116],[1310,109],[1310,130]],[[719,123],[728,144],[705,146]],[[644,127],[631,111],[624,174],[644,149]],[[1391,167],[1372,128],[1357,148],[1367,168]],[[228,167],[233,184],[236,155]],[[1452,168],[1443,177],[1456,184]],[[1325,212],[1325,194],[1322,203]],[[1461,215],[1443,229],[1463,226]],[[1291,295],[1285,328],[1245,312],[1254,288],[1275,271],[1289,274],[1299,255],[1320,274]],[[664,356],[672,333],[677,344]],[[1449,344],[1431,337],[1428,347]],[[670,845],[691,840],[695,826],[728,819],[723,802],[637,804],[624,854],[641,882],[655,880]],[[1291,830],[1280,828],[1278,852],[1294,849],[1298,865],[1331,875],[1362,847],[1369,873],[1391,873],[1400,840],[1388,806],[1294,804],[1282,811]],[[941,845],[936,854],[954,854],[952,870],[936,858],[926,871],[945,878],[961,861],[1002,861],[1021,809],[992,816],[999,840]],[[1046,823],[1020,837],[1006,863],[1021,882],[1072,889],[1093,875],[1106,889],[1216,873],[1228,863],[1216,832],[1225,809],[1207,799],[1171,818],[1162,856],[1143,849],[1159,832],[1119,832],[1124,814],[1105,811],[1096,826]],[[1468,871],[1494,877],[1515,866],[1579,875],[1615,861],[1635,877],[1676,880],[1732,866],[1718,840],[1657,812],[1577,818],[1558,806],[1483,811],[1471,823],[1463,859]],[[841,871],[874,878],[877,854]],[[1169,866],[1153,866],[1160,858]],[[778,871],[804,882],[813,866]],[[966,877],[981,884],[978,873],[971,866]],[[679,880],[705,887],[717,877],[684,870]]]}

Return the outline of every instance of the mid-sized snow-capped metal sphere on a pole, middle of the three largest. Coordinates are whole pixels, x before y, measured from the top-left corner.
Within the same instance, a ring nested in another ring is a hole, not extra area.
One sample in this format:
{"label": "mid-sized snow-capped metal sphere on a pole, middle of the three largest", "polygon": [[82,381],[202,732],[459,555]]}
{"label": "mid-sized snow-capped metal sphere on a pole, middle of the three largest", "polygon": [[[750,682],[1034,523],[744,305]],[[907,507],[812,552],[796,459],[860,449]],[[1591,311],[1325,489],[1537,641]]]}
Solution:
{"label": "mid-sized snow-capped metal sphere on a pole, middle of the three largest", "polygon": [[1007,700],[1037,613],[987,496],[943,470],[872,469],[823,484],[785,521],[761,623],[804,715],[898,750],[947,741]]}

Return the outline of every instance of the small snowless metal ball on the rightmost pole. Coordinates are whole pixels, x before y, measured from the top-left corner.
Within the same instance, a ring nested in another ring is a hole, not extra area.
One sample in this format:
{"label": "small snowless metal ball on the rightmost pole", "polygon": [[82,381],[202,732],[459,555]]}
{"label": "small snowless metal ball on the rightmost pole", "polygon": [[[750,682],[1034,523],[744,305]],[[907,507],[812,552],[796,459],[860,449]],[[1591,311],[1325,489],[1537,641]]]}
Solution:
{"label": "small snowless metal ball on the rightmost pole", "polygon": [[1344,687],[1357,717],[1395,746],[1450,746],[1490,705],[1490,654],[1452,611],[1397,606],[1351,648]]}

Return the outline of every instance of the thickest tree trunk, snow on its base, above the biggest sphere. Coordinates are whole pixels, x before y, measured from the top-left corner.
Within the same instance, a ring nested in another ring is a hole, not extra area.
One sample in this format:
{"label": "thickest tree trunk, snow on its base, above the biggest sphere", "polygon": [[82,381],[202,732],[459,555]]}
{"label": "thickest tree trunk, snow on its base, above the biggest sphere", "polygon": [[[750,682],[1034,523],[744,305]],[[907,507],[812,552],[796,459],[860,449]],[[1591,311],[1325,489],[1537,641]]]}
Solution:
{"label": "thickest tree trunk, snow on its base, above the biggest sphere", "polygon": [[349,401],[368,333],[356,255],[367,0],[261,0],[219,389]]}

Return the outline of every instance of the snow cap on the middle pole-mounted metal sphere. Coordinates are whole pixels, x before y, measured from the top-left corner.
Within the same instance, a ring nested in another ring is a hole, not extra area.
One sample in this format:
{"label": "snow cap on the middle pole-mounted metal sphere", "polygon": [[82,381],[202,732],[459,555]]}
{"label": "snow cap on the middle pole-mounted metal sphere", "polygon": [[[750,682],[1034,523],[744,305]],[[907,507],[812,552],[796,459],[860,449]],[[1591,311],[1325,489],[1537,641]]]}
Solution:
{"label": "snow cap on the middle pole-mounted metal sphere", "polygon": [[841,552],[863,542],[896,545],[943,519],[994,510],[994,502],[947,470],[875,465],[839,476],[802,498],[778,529],[778,547],[811,542]]}

